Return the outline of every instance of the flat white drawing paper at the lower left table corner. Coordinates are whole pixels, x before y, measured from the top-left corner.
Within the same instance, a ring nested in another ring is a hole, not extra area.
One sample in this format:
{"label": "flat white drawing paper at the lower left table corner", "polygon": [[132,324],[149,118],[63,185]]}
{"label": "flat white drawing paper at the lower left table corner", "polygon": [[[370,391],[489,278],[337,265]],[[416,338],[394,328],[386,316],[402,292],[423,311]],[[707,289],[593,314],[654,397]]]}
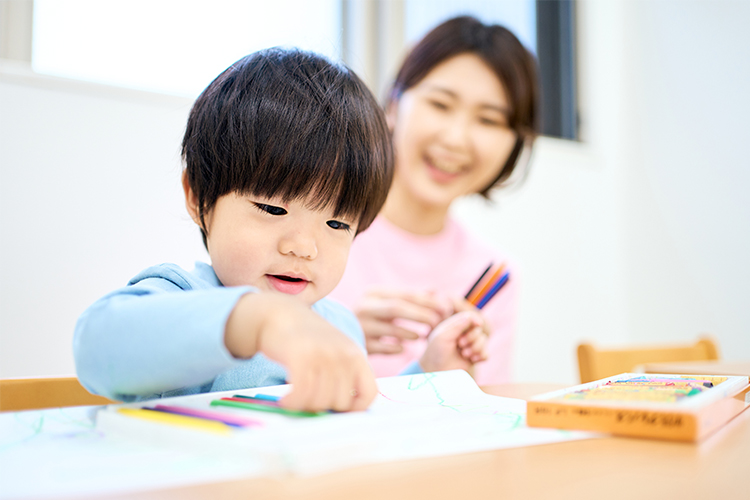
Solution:
{"label": "flat white drawing paper at the lower left table corner", "polygon": [[0,413],[0,498],[127,493],[265,473],[252,457],[221,460],[105,435],[99,407]]}

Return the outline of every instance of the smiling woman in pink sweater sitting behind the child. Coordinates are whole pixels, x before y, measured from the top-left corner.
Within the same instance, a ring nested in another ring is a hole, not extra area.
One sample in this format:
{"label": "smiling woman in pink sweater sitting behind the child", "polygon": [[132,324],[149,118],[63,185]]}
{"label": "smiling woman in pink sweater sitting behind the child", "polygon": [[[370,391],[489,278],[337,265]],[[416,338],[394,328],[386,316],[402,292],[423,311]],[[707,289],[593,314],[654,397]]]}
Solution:
{"label": "smiling woman in pink sweater sitting behind the child", "polygon": [[[457,198],[489,197],[524,169],[536,137],[536,86],[536,63],[518,39],[472,17],[433,29],[401,66],[387,103],[393,184],[332,294],[357,313],[376,375],[420,359],[430,332],[462,328],[455,318],[469,311],[489,335],[489,358],[460,341],[459,351],[477,363],[480,384],[508,381],[516,269],[449,212]],[[511,278],[479,314],[462,295],[491,262],[505,263]]]}

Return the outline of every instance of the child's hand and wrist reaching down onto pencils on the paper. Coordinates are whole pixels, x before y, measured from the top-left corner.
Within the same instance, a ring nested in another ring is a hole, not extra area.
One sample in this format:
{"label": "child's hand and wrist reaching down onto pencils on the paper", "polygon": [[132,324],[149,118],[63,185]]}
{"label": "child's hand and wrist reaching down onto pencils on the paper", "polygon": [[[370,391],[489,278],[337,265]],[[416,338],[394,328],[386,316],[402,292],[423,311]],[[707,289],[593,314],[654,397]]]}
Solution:
{"label": "child's hand and wrist reaching down onto pencils on the paper", "polygon": [[357,345],[294,297],[247,294],[227,321],[224,342],[236,357],[262,352],[287,369],[285,408],[365,410],[377,395],[375,377]]}

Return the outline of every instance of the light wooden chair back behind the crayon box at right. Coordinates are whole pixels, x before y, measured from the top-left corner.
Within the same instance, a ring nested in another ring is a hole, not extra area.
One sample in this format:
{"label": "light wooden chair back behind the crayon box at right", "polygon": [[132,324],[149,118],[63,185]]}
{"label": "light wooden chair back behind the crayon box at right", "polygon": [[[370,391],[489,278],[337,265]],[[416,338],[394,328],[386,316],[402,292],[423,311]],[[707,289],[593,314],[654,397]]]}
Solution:
{"label": "light wooden chair back behind the crayon box at right", "polygon": [[636,366],[644,363],[712,359],[719,359],[719,349],[710,336],[701,336],[693,344],[671,346],[606,350],[597,349],[588,343],[578,346],[578,369],[582,384],[619,373],[632,372]]}

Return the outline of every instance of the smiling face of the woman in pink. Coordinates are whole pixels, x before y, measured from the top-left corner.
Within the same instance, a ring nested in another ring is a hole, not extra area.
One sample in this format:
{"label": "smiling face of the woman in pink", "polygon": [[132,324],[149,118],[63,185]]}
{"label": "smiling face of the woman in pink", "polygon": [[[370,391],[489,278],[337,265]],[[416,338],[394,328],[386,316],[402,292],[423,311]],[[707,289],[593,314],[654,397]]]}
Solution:
{"label": "smiling face of the woman in pink", "polygon": [[396,151],[393,191],[445,208],[492,182],[516,141],[502,83],[477,55],[435,66],[388,109]]}

